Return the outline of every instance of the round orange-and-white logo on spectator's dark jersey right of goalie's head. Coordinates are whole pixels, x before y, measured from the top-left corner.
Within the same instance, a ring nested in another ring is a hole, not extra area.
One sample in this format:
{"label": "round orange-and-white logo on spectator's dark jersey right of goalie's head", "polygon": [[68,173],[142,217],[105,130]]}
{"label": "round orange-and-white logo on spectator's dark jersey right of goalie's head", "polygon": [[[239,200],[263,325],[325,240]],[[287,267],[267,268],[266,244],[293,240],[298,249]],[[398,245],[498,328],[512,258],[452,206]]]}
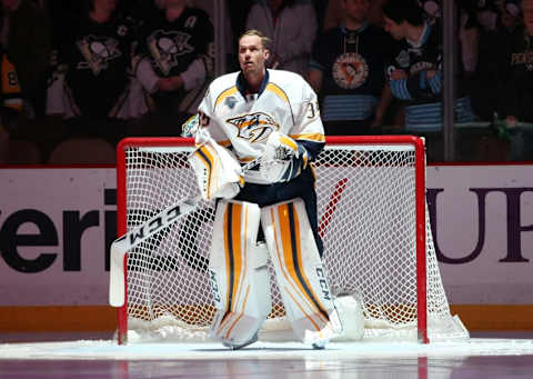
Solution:
{"label": "round orange-and-white logo on spectator's dark jersey right of goalie's head", "polygon": [[340,56],[332,68],[335,83],[345,89],[361,87],[369,77],[366,60],[355,52],[345,52]]}

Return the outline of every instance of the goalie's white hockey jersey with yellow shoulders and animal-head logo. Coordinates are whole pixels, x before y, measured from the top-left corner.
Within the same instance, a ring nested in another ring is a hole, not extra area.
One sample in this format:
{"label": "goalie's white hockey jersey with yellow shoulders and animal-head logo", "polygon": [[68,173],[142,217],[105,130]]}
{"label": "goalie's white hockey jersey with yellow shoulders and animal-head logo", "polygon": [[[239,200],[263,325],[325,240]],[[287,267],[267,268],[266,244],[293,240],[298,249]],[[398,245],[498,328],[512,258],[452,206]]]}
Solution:
{"label": "goalie's white hockey jersey with yellow shoulders and animal-head logo", "polygon": [[259,93],[249,93],[242,73],[224,74],[210,84],[199,114],[197,141],[208,132],[219,144],[231,147],[241,162],[261,157],[274,130],[303,144],[310,160],[325,142],[316,93],[289,71],[266,70]]}

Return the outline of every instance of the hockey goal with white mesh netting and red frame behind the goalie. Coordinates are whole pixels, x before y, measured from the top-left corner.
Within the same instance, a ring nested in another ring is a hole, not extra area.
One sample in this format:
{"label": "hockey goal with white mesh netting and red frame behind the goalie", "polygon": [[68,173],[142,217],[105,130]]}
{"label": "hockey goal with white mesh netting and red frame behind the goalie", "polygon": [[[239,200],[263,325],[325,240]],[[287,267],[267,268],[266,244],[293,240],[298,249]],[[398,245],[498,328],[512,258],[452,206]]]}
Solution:
{"label": "hockey goal with white mesh netting and red frame behind the goalie", "polygon": [[[119,235],[199,193],[187,162],[191,150],[192,140],[181,138],[135,138],[119,144]],[[461,320],[451,316],[433,247],[423,140],[328,138],[313,164],[330,286],[333,293],[360,299],[364,338],[467,337]],[[213,219],[214,203],[201,202],[127,255],[119,342],[208,339],[214,315],[207,273]],[[290,335],[273,278],[271,286],[273,309],[260,332],[264,339]]]}

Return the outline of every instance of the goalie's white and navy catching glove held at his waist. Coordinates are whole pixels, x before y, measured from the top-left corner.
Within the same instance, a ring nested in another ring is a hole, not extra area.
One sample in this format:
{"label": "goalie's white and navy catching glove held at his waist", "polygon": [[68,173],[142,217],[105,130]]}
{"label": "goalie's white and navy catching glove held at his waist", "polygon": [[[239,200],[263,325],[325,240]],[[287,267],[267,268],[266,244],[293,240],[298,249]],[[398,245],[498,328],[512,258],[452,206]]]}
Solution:
{"label": "goalie's white and navy catching glove held at his waist", "polygon": [[263,180],[275,183],[290,181],[308,166],[308,151],[292,138],[274,131],[269,136],[261,158]]}

